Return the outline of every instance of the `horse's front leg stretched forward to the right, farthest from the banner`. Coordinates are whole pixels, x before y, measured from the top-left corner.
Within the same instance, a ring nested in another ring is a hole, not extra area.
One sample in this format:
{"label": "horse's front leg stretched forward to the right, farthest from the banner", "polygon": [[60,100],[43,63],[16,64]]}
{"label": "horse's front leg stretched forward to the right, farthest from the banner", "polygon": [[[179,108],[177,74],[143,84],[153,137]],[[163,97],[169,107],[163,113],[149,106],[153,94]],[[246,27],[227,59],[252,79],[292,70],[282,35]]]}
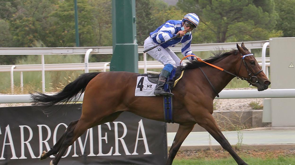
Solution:
{"label": "horse's front leg stretched forward to the right, farthest from the banner", "polygon": [[205,128],[210,133],[210,135],[212,135],[212,137],[222,146],[223,149],[230,153],[230,155],[235,159],[238,165],[248,165],[232,149],[232,146],[224,137],[219,127],[217,126],[213,116],[209,112],[204,116],[199,116],[196,121],[201,127]]}

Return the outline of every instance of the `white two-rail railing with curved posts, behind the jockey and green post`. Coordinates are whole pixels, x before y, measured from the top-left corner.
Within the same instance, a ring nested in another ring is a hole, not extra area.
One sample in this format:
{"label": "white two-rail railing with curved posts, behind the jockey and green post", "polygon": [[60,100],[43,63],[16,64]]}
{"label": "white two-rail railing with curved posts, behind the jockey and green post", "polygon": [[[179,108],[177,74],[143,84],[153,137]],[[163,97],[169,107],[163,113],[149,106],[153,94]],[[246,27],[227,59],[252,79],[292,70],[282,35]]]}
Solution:
{"label": "white two-rail railing with curved posts, behind the jockey and green post", "polygon": [[[241,42],[238,42],[240,44]],[[262,50],[262,64],[260,66],[269,66],[269,63],[266,63],[265,52],[268,46],[267,41],[249,41],[244,42],[245,46],[248,49],[256,49],[256,48],[263,48]],[[222,49],[232,49],[236,48],[237,43],[209,43],[209,44],[192,44],[191,50],[192,51],[209,51],[209,50],[216,50],[216,48]],[[138,46],[138,53],[143,53],[143,46]],[[176,45],[175,47],[171,47],[171,50],[174,52],[181,52],[181,45]],[[89,63],[89,55],[91,54],[112,54],[112,47],[73,47],[73,48],[0,48],[0,55],[42,55],[42,64],[41,70],[39,65],[15,65],[15,68],[10,66],[10,70],[5,67],[9,66],[0,66],[0,72],[10,71],[11,72],[11,88],[13,92],[13,71],[42,71],[42,92],[45,92],[45,71],[64,71],[64,70],[85,70],[85,73],[88,73],[89,70],[103,70],[109,69],[109,62],[103,63],[103,66],[93,66],[91,67]],[[264,56],[263,56],[264,52]],[[44,64],[44,55],[69,55],[69,54],[84,54],[84,66],[78,66],[80,63],[70,64],[71,67],[64,67],[68,64]],[[139,62],[138,68],[144,69],[146,73],[147,69],[154,69],[154,68],[163,68],[161,63],[157,63],[154,65],[149,65],[149,61],[146,59],[146,53],[143,53],[143,66],[140,65],[141,61]],[[269,58],[268,58],[269,62]],[[153,62],[154,63],[154,62]],[[96,63],[98,64],[98,63]],[[29,67],[27,67],[29,66]],[[46,67],[45,67],[46,66]],[[48,68],[47,68],[48,66]],[[53,67],[49,67],[53,66]],[[26,68],[27,67],[27,68]],[[265,68],[263,71],[268,76],[268,68]],[[21,74],[22,77],[22,74]],[[21,78],[22,82],[22,78]],[[21,83],[22,84],[22,83]],[[21,86],[22,88],[22,86]]]}

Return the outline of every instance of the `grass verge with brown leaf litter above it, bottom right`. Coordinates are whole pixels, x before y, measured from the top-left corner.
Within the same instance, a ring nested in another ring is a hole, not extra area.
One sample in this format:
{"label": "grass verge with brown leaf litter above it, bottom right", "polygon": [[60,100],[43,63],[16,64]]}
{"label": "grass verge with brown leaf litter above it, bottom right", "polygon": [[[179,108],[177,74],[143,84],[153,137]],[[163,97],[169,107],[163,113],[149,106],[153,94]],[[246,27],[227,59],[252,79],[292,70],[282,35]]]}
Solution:
{"label": "grass verge with brown leaf litter above it, bottom right", "polygon": [[[235,149],[235,148],[234,148]],[[291,150],[240,150],[237,154],[249,165],[295,165],[295,153]],[[181,150],[173,165],[237,165],[232,156],[223,149]]]}

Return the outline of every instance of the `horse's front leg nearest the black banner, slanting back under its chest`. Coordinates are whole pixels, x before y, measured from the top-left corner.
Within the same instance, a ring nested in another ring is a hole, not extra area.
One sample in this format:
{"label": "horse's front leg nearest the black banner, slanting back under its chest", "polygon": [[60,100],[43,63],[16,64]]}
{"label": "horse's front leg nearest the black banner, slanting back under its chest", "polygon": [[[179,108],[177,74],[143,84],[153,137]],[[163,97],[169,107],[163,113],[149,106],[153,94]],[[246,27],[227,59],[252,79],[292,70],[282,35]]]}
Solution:
{"label": "horse's front leg nearest the black banner, slanting back under its chest", "polygon": [[176,156],[177,151],[179,150],[182,142],[184,139],[189,135],[191,130],[193,130],[194,124],[193,125],[181,125],[179,124],[178,130],[176,132],[176,135],[174,137],[172,146],[169,150],[169,157],[167,159],[166,165],[171,165],[173,162],[173,159]]}

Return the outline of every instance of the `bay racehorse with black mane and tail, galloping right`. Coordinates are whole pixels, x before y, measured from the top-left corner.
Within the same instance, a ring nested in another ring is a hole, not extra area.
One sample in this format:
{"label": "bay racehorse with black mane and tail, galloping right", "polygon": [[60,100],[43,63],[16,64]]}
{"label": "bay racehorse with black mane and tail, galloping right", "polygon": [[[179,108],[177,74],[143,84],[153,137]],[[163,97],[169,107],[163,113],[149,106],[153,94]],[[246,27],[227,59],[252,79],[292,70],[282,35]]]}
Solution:
{"label": "bay racehorse with black mane and tail, galloping right", "polygon": [[[241,46],[237,44],[237,50],[217,53],[204,61],[227,72],[199,61],[190,61],[185,66],[182,79],[172,89],[173,121],[179,124],[179,128],[169,150],[166,165],[172,164],[178,149],[196,123],[205,128],[222,148],[231,154],[237,164],[247,165],[232,149],[212,117],[213,100],[235,76],[248,81],[257,87],[258,91],[267,89],[271,82],[244,43]],[[200,68],[207,74],[212,85]],[[138,73],[123,71],[84,73],[54,95],[31,94],[34,105],[50,106],[68,103],[85,92],[80,119],[72,121],[53,148],[42,152],[40,159],[57,154],[50,161],[50,165],[57,165],[66,149],[87,129],[112,122],[124,111],[164,121],[162,97],[135,97],[137,76]]]}

